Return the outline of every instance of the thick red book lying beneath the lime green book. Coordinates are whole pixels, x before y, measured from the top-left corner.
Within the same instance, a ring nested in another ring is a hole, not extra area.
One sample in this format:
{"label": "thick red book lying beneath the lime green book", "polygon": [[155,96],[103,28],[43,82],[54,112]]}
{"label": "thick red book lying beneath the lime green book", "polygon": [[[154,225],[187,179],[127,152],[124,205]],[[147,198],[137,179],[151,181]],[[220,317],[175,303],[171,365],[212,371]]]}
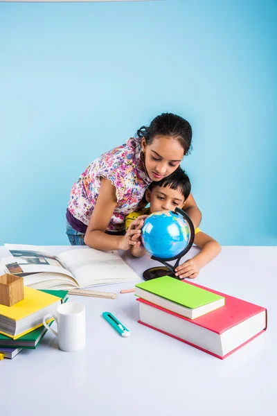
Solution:
{"label": "thick red book lying beneath the lime green book", "polygon": [[210,288],[184,281],[225,297],[222,308],[195,320],[141,298],[139,323],[224,359],[267,329],[267,309]]}

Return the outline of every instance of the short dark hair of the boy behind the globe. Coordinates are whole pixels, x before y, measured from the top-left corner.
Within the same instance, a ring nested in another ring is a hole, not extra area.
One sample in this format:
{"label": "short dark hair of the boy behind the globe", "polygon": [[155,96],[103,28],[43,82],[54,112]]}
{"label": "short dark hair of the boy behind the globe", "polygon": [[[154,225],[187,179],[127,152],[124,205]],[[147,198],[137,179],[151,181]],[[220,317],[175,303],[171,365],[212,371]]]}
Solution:
{"label": "short dark hair of the boy behind the globe", "polygon": [[159,182],[152,182],[149,186],[150,191],[155,187],[170,187],[171,189],[178,189],[184,196],[185,200],[190,195],[190,178],[182,168],[177,168],[171,175],[163,177]]}

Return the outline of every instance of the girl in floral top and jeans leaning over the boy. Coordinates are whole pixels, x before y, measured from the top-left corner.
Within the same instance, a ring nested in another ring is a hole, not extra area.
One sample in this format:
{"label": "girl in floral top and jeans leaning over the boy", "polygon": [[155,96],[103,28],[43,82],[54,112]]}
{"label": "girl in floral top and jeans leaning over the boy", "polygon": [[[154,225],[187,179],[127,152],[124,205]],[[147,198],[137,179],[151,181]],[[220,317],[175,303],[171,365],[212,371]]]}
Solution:
{"label": "girl in floral top and jeans leaning over the boy", "polygon": [[[146,205],[145,189],[153,181],[178,168],[191,139],[188,121],[164,113],[136,137],[95,159],[71,189],[66,211],[70,243],[98,250],[129,250],[135,245],[132,236],[139,232],[140,222],[134,220],[125,233],[125,216]],[[186,211],[198,227],[202,214],[191,194]]]}

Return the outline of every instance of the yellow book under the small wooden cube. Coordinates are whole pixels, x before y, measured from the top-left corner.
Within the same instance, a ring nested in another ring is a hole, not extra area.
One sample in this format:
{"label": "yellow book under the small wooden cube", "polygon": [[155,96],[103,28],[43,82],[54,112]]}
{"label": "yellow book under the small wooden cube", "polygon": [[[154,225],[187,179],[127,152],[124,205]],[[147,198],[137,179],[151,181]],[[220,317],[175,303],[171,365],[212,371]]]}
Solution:
{"label": "yellow book under the small wooden cube", "polygon": [[61,302],[60,297],[24,286],[24,300],[12,306],[0,304],[0,333],[16,340],[42,327],[44,315],[55,313]]}

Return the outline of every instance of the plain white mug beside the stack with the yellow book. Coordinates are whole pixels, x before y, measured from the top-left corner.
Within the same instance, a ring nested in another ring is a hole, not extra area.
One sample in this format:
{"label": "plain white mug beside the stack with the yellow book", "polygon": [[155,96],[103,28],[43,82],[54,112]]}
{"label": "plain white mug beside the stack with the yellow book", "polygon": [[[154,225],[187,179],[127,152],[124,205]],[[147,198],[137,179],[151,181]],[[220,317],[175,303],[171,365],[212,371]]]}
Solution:
{"label": "plain white mug beside the stack with the yellow book", "polygon": [[[57,332],[45,322],[51,318],[57,322]],[[75,302],[60,304],[57,306],[57,315],[48,313],[43,318],[43,324],[57,336],[57,343],[62,351],[73,352],[84,348],[86,324],[83,304]]]}

